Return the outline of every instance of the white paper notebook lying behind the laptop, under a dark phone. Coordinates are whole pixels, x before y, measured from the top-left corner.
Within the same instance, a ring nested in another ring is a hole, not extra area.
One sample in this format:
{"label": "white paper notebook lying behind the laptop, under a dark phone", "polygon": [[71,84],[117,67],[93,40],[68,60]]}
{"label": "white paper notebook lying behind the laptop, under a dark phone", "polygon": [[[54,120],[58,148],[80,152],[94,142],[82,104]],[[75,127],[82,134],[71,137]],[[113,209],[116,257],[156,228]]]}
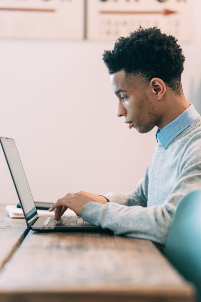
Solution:
{"label": "white paper notebook lying behind the laptop, under a dark phone", "polygon": [[[37,210],[39,216],[54,216],[55,212],[49,212],[48,210]],[[5,207],[5,214],[10,218],[24,218],[22,209],[17,208],[16,205],[8,205]],[[68,209],[64,215],[74,216],[76,215],[74,211]]]}

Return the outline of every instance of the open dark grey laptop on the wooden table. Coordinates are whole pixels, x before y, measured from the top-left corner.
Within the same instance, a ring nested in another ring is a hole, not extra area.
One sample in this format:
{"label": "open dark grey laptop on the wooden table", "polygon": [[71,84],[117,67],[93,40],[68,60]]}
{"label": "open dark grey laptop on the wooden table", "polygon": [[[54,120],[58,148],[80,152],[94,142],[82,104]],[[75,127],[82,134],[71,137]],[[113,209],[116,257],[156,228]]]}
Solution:
{"label": "open dark grey laptop on the wooden table", "polygon": [[77,216],[62,216],[61,220],[55,220],[53,216],[39,216],[14,140],[0,137],[0,142],[29,229],[48,232],[102,230],[100,226],[94,226]]}

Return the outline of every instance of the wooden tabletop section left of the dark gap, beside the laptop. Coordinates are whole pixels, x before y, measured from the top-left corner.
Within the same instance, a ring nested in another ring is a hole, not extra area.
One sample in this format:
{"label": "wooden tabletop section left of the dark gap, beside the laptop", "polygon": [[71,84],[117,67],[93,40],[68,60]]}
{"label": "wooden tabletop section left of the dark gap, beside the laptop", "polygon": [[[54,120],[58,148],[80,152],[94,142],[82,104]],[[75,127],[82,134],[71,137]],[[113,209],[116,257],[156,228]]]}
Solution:
{"label": "wooden tabletop section left of the dark gap, beside the laptop", "polygon": [[5,214],[5,206],[0,206],[0,270],[24,239],[26,230],[23,218],[9,218]]}

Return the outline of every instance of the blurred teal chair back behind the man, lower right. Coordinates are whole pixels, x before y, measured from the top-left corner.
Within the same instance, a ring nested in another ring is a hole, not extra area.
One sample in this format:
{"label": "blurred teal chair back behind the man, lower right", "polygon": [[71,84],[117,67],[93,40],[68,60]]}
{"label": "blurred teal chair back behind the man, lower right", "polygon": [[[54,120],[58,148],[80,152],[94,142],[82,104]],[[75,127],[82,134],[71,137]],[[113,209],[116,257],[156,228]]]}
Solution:
{"label": "blurred teal chair back behind the man, lower right", "polygon": [[201,190],[181,198],[173,217],[164,255],[197,289],[201,302]]}

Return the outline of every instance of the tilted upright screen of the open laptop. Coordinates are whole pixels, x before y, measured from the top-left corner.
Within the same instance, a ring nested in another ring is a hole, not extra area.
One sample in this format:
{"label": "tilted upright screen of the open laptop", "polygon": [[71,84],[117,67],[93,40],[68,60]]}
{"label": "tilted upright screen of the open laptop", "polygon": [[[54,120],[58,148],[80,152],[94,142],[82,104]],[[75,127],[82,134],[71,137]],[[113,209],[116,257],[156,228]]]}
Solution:
{"label": "tilted upright screen of the open laptop", "polygon": [[33,197],[27,182],[26,175],[17,152],[15,142],[11,138],[0,138],[5,158],[13,178],[13,182],[19,197],[20,203],[24,210],[24,215],[29,224],[29,221],[36,216],[37,211],[33,201]]}

